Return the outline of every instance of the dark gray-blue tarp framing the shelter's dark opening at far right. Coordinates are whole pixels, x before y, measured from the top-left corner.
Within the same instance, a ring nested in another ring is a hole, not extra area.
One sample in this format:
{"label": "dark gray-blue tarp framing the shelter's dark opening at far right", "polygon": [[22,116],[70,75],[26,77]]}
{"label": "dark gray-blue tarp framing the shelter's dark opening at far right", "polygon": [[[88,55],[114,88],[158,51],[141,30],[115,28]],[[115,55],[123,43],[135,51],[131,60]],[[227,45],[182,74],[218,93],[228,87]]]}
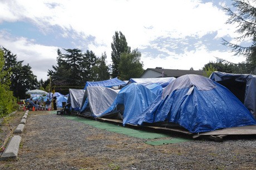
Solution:
{"label": "dark gray-blue tarp framing the shelter's dark opening at far right", "polygon": [[229,73],[214,71],[210,75],[210,79],[219,83],[221,81],[229,80],[229,79],[234,79],[237,82],[244,82],[246,84],[245,92],[244,92],[244,105],[256,118],[256,75],[229,74]]}

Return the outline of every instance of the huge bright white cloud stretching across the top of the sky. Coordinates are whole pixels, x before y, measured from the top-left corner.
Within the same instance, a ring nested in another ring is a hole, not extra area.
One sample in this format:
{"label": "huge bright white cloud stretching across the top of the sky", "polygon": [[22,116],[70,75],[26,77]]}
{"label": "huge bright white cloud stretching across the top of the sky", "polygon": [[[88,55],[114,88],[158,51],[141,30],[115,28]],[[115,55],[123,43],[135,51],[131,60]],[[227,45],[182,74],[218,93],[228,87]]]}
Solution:
{"label": "huge bright white cloud stretching across the top of the sky", "polygon": [[[55,4],[53,8],[49,4]],[[168,36],[203,36],[219,31],[227,20],[224,12],[212,3],[200,1],[16,1],[4,6],[14,18],[27,18],[40,28],[58,25],[64,29],[93,35],[97,42],[110,44],[112,35],[121,30],[134,48],[148,45],[150,40]],[[21,9],[17,12],[13,10]],[[5,16],[0,17],[5,19]],[[7,19],[6,19],[7,20]],[[150,27],[151,29],[146,29]],[[45,30],[44,29],[44,30]],[[47,30],[47,29],[46,29]],[[231,33],[228,33],[231,34]]]}

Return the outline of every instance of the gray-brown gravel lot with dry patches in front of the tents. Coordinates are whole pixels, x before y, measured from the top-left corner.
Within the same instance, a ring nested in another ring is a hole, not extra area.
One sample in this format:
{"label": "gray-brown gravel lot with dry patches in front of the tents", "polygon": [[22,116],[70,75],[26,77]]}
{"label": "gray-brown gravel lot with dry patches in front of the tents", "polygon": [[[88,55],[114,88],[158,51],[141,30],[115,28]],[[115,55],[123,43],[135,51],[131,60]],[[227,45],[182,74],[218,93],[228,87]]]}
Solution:
{"label": "gray-brown gravel lot with dry patches in front of the tents", "polygon": [[46,111],[29,112],[21,136],[0,169],[256,169],[255,136],[151,146]]}

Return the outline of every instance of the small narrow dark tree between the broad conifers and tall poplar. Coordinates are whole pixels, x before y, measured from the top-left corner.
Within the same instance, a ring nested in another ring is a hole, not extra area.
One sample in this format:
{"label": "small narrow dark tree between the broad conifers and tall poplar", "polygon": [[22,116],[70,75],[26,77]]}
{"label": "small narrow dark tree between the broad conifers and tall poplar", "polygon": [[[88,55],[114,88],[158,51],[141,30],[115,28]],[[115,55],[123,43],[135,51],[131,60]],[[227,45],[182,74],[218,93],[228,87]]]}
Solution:
{"label": "small narrow dark tree between the broad conifers and tall poplar", "polygon": [[106,64],[106,52],[101,54],[101,58],[97,58],[96,65],[93,66],[93,77],[96,81],[110,79],[109,66]]}

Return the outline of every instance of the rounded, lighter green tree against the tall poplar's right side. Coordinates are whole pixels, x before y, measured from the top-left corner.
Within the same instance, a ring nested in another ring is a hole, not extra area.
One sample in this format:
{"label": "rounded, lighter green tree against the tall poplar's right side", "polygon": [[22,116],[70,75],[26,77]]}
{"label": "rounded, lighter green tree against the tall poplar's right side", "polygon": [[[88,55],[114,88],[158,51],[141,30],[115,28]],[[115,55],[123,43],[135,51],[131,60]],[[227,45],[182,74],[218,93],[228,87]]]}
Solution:
{"label": "rounded, lighter green tree against the tall poplar's right side", "polygon": [[139,78],[143,73],[143,63],[140,63],[141,53],[138,49],[132,50],[131,53],[122,53],[118,70],[120,77],[124,80],[130,78]]}

